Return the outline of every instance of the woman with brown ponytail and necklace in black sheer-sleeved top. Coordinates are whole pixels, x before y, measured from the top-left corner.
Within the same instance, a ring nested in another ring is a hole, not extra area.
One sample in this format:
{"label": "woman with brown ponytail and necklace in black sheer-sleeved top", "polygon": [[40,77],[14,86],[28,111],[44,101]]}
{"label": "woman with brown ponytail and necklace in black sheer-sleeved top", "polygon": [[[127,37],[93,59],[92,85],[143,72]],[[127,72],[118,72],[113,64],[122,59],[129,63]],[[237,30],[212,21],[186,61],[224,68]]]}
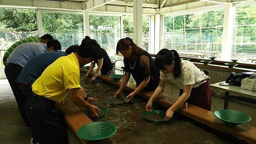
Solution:
{"label": "woman with brown ponytail and necklace in black sheer-sleeved top", "polygon": [[154,60],[149,53],[134,44],[131,38],[122,38],[118,41],[116,53],[119,52],[124,56],[125,76],[114,97],[122,93],[131,75],[134,77],[137,88],[127,96],[128,102],[141,90],[155,91],[160,81],[160,73],[155,68]]}

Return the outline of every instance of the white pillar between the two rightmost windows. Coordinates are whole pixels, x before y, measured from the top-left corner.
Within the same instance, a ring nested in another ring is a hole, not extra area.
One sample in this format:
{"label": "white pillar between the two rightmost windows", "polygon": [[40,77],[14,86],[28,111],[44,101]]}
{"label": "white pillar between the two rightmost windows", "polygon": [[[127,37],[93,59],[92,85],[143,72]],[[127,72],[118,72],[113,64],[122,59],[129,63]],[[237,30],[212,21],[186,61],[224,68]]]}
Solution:
{"label": "white pillar between the two rightmost windows", "polygon": [[232,50],[232,36],[234,24],[235,7],[232,3],[227,3],[224,6],[224,23],[222,35],[221,59],[229,61]]}

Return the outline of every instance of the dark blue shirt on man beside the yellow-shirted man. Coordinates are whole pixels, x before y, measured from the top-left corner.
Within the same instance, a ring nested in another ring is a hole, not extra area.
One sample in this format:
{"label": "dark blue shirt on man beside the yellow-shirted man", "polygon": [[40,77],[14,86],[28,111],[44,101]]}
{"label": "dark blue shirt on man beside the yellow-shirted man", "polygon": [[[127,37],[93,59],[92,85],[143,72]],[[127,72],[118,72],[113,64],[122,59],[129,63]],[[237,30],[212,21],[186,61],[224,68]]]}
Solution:
{"label": "dark blue shirt on man beside the yellow-shirted man", "polygon": [[47,68],[54,61],[59,59],[61,56],[66,56],[66,53],[62,51],[51,51],[33,57],[24,66],[21,73],[17,77],[16,82],[28,82],[32,85],[36,81],[36,79],[38,79],[39,76],[41,76],[43,71],[45,71],[45,68]]}

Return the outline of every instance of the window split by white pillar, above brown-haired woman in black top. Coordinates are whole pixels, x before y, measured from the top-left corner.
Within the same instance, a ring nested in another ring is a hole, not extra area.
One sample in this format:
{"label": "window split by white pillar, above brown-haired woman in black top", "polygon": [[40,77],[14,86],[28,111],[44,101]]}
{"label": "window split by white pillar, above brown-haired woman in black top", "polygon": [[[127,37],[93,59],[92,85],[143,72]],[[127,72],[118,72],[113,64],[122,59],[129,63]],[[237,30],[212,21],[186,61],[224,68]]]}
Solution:
{"label": "window split by white pillar, above brown-haired woman in black top", "polygon": [[[149,51],[149,24],[150,24],[150,16],[142,17],[142,49]],[[132,15],[124,15],[123,16],[123,38],[129,37],[133,39],[133,16]]]}

